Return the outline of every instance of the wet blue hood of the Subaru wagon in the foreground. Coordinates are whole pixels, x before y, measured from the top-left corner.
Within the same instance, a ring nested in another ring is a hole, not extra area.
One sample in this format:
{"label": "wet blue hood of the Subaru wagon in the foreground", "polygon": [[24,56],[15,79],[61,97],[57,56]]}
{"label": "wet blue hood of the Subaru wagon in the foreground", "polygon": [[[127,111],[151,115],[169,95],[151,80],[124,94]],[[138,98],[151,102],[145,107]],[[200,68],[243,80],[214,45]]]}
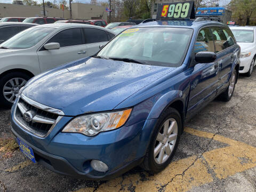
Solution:
{"label": "wet blue hood of the Subaru wagon in the foreground", "polygon": [[22,93],[43,105],[62,110],[65,115],[75,116],[112,110],[174,69],[86,58],[34,77]]}

